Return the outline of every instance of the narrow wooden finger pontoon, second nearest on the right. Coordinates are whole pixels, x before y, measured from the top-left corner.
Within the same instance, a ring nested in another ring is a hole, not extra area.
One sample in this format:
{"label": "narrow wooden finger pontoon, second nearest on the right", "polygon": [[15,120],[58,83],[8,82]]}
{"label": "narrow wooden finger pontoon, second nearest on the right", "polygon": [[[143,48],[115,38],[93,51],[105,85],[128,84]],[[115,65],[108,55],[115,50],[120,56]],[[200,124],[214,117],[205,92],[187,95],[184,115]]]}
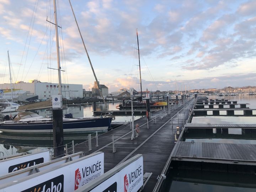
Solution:
{"label": "narrow wooden finger pontoon, second nearest on the right", "polygon": [[201,124],[201,123],[187,123],[188,129],[212,129],[212,128],[243,128],[255,129],[256,124]]}

